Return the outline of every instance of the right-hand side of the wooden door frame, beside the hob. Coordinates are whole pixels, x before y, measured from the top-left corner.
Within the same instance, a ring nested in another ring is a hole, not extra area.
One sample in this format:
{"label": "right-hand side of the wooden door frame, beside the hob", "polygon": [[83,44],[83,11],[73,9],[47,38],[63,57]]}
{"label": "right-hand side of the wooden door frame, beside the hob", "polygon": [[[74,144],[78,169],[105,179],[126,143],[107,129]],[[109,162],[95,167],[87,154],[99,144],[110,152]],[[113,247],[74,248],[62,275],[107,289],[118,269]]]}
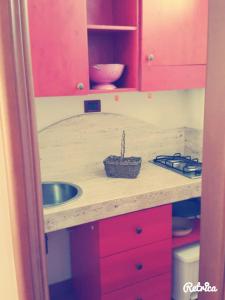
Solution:
{"label": "right-hand side of the wooden door frame, beside the hob", "polygon": [[204,117],[200,281],[219,290],[200,300],[223,300],[225,266],[225,2],[209,1]]}

